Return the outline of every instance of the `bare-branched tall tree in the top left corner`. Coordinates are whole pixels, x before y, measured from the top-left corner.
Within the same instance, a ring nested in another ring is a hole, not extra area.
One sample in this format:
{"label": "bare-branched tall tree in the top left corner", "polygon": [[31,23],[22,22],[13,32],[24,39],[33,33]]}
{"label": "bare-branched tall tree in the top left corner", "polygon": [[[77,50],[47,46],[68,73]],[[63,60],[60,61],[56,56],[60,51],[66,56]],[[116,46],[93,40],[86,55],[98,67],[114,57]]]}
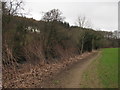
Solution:
{"label": "bare-branched tall tree in the top left corner", "polygon": [[2,1],[2,22],[3,27],[9,24],[13,16],[22,15],[23,10],[22,0],[4,0]]}

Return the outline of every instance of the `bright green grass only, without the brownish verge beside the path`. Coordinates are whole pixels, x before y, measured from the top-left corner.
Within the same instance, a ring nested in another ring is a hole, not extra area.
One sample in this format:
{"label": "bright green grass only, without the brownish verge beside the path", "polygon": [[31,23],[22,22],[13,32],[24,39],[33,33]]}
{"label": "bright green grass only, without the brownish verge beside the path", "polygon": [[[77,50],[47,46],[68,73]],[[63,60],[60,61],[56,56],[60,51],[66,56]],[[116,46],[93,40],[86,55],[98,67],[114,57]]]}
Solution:
{"label": "bright green grass only, without the brownish verge beside the path", "polygon": [[103,49],[97,68],[105,88],[118,87],[118,48]]}

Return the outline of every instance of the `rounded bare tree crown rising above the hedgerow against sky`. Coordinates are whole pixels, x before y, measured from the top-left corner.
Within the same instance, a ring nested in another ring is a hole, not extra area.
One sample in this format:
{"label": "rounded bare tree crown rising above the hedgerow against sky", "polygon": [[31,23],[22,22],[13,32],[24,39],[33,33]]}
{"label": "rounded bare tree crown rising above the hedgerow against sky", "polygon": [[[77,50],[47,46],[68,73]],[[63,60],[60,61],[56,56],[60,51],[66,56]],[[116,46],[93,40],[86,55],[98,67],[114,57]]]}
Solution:
{"label": "rounded bare tree crown rising above the hedgerow against sky", "polygon": [[62,15],[62,12],[59,9],[52,9],[44,13],[42,20],[43,21],[63,21],[65,17],[61,15]]}

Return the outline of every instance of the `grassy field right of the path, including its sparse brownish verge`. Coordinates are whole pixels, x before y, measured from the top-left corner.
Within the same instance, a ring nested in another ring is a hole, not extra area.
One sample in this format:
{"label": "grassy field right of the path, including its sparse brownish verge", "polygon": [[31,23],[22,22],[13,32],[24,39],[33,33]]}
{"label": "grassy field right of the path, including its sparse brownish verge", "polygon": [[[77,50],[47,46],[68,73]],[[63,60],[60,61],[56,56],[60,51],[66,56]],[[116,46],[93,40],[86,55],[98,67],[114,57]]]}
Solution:
{"label": "grassy field right of the path, including its sparse brownish verge", "polygon": [[118,87],[118,48],[105,48],[83,74],[82,87]]}

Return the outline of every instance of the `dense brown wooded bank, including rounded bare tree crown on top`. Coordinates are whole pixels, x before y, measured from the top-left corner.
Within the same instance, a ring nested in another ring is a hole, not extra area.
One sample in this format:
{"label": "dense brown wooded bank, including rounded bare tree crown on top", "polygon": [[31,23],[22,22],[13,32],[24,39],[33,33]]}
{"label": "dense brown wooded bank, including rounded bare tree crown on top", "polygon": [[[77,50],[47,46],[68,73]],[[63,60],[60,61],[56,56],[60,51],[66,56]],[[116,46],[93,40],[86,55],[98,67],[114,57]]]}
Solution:
{"label": "dense brown wooded bank, including rounded bare tree crown on top", "polygon": [[[3,73],[24,64],[44,65],[104,47],[119,47],[109,33],[70,26],[60,10],[46,12],[40,21],[12,13],[3,4]],[[20,3],[19,3],[20,4]],[[12,72],[13,73],[13,72]]]}

